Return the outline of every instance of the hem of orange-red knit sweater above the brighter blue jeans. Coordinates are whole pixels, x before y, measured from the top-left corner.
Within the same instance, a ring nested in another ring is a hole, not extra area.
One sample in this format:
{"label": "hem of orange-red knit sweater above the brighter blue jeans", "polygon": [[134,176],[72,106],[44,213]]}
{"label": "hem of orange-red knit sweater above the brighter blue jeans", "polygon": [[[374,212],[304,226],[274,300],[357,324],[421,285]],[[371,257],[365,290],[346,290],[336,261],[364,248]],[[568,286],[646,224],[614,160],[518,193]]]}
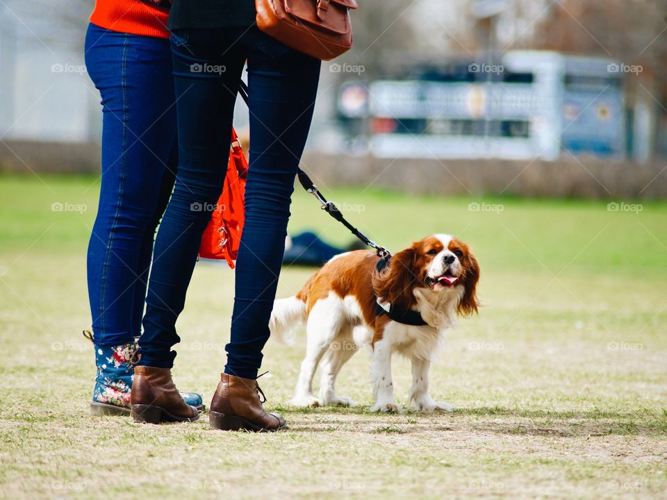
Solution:
{"label": "hem of orange-red knit sweater above the brighter blue jeans", "polygon": [[140,0],[95,0],[90,22],[120,33],[169,38],[168,17],[167,10]]}

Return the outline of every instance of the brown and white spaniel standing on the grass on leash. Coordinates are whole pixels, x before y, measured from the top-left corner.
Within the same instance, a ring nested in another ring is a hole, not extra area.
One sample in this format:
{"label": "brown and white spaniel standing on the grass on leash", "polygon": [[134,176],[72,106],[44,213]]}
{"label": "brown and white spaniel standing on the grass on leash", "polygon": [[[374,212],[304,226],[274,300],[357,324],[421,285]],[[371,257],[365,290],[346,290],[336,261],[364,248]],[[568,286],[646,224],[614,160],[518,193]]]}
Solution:
{"label": "brown and white spaniel standing on the grass on leash", "polygon": [[[290,403],[354,406],[351,399],[336,395],[334,383],[359,347],[368,347],[375,398],[372,411],[400,412],[391,380],[393,353],[411,360],[410,403],[424,412],[451,411],[449,404],[429,395],[429,367],[444,331],[456,325],[456,317],[477,312],[477,259],[465,243],[436,234],[396,253],[384,269],[377,270],[377,263],[372,251],[343,253],[311,276],[294,297],[275,302],[270,328],[279,340],[286,340],[293,328],[306,322],[306,358]],[[399,315],[384,314],[376,303]],[[402,319],[401,311],[413,316],[411,311],[416,311],[425,324],[415,326],[390,317]],[[320,361],[320,394],[315,398],[312,382]]]}

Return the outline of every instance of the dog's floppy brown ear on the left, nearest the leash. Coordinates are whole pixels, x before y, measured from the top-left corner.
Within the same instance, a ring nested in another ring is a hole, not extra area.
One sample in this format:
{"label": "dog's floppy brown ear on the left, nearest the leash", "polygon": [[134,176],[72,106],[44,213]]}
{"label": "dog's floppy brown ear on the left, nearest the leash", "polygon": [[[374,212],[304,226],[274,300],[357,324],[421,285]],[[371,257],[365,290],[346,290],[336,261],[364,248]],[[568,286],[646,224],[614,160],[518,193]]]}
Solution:
{"label": "dog's floppy brown ear on the left, nearest the leash", "polygon": [[415,303],[412,290],[414,281],[418,279],[414,270],[416,255],[413,245],[393,256],[388,267],[374,272],[373,289],[377,297],[393,307],[404,309]]}

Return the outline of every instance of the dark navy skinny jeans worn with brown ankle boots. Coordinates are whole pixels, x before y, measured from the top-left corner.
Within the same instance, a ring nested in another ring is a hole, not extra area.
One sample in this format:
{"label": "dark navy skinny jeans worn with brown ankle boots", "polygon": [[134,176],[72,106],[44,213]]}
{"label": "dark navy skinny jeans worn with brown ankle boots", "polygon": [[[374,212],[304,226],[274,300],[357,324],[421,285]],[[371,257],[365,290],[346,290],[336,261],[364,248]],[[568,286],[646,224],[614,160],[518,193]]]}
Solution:
{"label": "dark navy skinny jeans worn with brown ankle boots", "polygon": [[[141,364],[172,367],[176,318],[197,249],[224,181],[238,81],[248,67],[250,160],[245,226],[236,261],[236,297],[227,374],[256,378],[280,273],[295,174],[308,136],[320,61],[256,27],[172,35],[179,169],[158,229]],[[203,206],[205,210],[192,210]],[[221,335],[222,332],[217,333]]]}

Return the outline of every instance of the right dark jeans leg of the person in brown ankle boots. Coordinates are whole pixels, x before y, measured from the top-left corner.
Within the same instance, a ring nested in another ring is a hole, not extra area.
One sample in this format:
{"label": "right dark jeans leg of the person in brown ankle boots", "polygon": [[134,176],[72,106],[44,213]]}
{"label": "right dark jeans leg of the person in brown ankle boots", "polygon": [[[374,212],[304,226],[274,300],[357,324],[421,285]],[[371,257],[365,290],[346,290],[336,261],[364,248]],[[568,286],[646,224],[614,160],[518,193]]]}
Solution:
{"label": "right dark jeans leg of the person in brown ankle boots", "polygon": [[254,379],[285,249],[291,194],[311,125],[320,61],[249,33],[250,162],[226,374]]}

